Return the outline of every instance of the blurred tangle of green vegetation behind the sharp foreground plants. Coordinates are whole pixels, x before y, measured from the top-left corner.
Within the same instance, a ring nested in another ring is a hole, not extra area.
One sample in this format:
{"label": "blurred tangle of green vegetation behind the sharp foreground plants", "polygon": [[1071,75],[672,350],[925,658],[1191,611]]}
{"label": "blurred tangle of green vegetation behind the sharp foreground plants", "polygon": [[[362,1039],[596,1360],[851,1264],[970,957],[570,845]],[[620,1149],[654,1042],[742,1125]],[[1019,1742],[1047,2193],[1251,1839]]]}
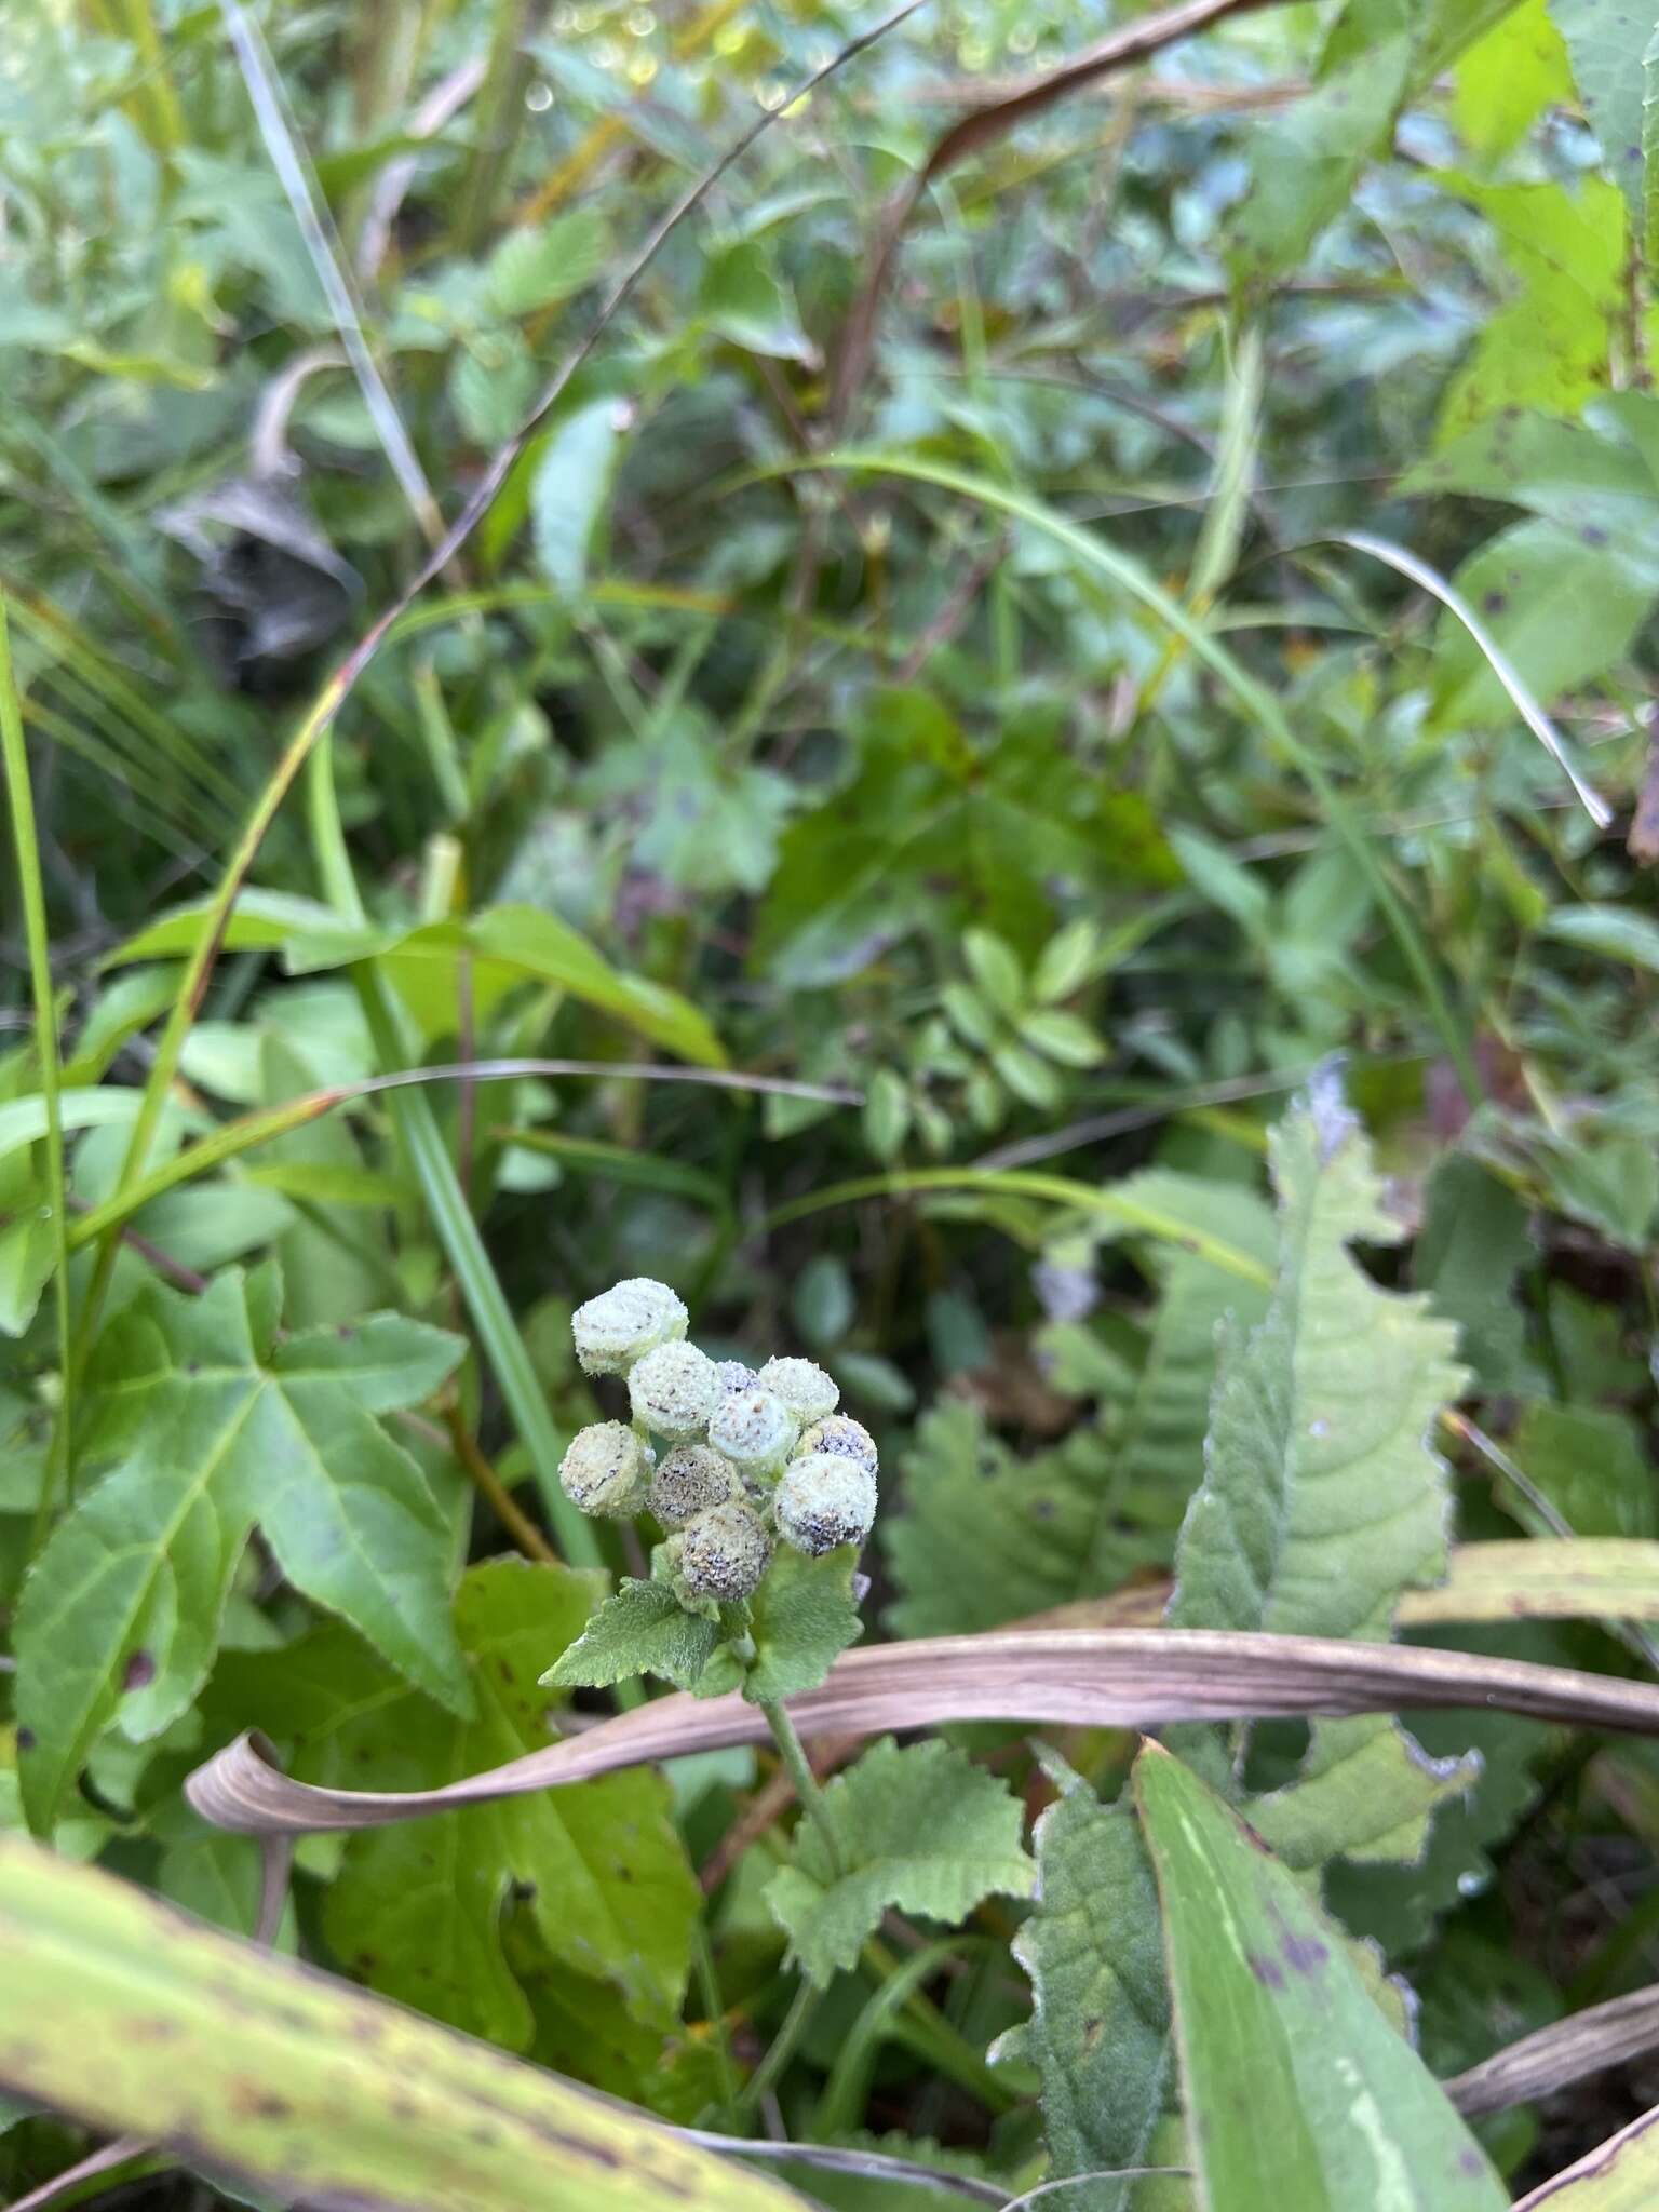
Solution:
{"label": "blurred tangle of green vegetation behind the sharp foreground plants", "polygon": [[[1126,1469],[1166,1267],[1018,1170],[1250,1210],[1267,1119],[1340,1051],[1416,1239],[1385,1272],[1462,1323],[1526,1484],[1471,1451],[1464,1533],[1659,1535],[1652,24],[1206,13],[1073,84],[1104,7],[927,0],[794,97],[880,15],[0,9],[0,575],[66,1079],[153,1071],[307,703],[639,268],[279,810],[150,1166],[394,1066],[856,1095],[434,1088],[449,1183],[372,1097],[128,1210],[113,1310],[276,1252],[290,1327],[469,1312],[467,1449],[555,1517],[593,1413],[568,1310],[666,1276],[706,1343],[821,1358],[885,1447],[920,1422],[869,1613],[991,1626],[1168,1564],[1210,1380],[1203,1336],[1183,1427]],[[15,885],[4,949],[15,1099]],[[75,1139],[73,1208],[119,1194],[126,1137]],[[33,1175],[0,1161],[7,1597],[53,1495]],[[865,1177],[898,1197],[836,1197]],[[440,1425],[411,1449],[460,1482]],[[1037,1498],[1117,1469],[1093,1588],[929,1573],[916,1531],[945,1544],[962,1471],[1004,1462]],[[500,1548],[487,1509],[467,1542]],[[232,1646],[268,1597],[239,1586]],[[1588,1628],[1506,1635],[1608,1663]],[[237,1721],[215,1694],[97,1770],[113,1863],[199,1909],[146,1807]],[[1659,1931],[1644,1747],[1495,1728],[1475,1807],[1444,1880],[1352,1909],[1442,2070],[1650,1980]],[[739,1900],[739,1980],[745,1942],[774,1960]],[[964,2000],[980,2046],[1011,2011]],[[593,2077],[690,2112],[626,2035]],[[584,2068],[551,2013],[535,2048]],[[960,2088],[896,2084],[880,2124],[973,2139]],[[1635,2110],[1608,2095],[1544,2152],[1535,2112],[1493,2141],[1546,2172]]]}

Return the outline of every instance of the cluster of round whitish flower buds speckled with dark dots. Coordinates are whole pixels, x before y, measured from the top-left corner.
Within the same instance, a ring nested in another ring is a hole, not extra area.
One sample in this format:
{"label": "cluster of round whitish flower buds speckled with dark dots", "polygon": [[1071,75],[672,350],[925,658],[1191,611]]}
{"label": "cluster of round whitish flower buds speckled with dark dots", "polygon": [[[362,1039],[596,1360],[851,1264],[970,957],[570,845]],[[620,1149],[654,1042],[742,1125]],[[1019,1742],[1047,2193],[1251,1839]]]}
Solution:
{"label": "cluster of round whitish flower buds speckled with dark dots", "polygon": [[582,1429],[560,1467],[564,1493],[582,1513],[650,1513],[681,1599],[752,1597],[776,1537],[814,1559],[865,1542],[876,1444],[836,1413],[841,1391],[814,1360],[776,1358],[759,1374],[710,1360],[686,1343],[675,1292],[646,1276],[580,1305],[571,1336],[588,1374],[626,1376],[633,1427]]}

